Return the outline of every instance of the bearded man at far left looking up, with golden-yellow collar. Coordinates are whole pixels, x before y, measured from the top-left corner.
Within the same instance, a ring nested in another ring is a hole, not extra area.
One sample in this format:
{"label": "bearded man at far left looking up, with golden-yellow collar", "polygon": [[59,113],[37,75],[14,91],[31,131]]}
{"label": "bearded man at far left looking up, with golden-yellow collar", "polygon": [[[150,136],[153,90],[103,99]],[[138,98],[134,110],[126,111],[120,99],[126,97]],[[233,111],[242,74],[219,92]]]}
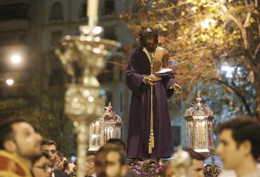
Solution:
{"label": "bearded man at far left looking up, with golden-yellow collar", "polygon": [[41,156],[42,137],[23,116],[0,123],[0,176],[31,177],[30,169]]}

